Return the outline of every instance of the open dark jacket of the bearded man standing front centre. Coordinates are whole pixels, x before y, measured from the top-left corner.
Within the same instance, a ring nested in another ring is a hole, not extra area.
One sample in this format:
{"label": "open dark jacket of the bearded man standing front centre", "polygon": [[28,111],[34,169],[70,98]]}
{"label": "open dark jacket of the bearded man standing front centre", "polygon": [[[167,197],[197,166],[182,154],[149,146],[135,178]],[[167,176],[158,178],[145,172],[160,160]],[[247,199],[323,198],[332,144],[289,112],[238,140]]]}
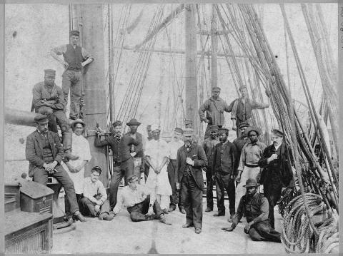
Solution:
{"label": "open dark jacket of the bearded man standing front centre", "polygon": [[[194,166],[186,163],[186,158],[194,160]],[[175,174],[175,183],[181,183],[184,172],[189,170],[200,189],[204,188],[204,179],[202,178],[202,168],[207,166],[207,158],[201,145],[192,143],[190,150],[187,152],[185,145],[177,150],[177,172]]]}

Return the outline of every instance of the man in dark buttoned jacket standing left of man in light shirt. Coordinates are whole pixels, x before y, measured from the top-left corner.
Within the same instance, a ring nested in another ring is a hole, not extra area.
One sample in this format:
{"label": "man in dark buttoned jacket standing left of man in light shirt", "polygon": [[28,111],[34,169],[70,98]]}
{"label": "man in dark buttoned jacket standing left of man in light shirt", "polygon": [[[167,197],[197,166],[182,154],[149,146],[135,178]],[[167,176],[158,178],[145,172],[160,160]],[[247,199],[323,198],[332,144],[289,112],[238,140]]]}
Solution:
{"label": "man in dark buttoned jacket standing left of man in light shirt", "polygon": [[224,216],[224,190],[227,190],[229,197],[229,222],[232,222],[235,211],[235,185],[234,178],[237,172],[237,148],[234,143],[227,140],[229,130],[219,128],[218,130],[220,143],[214,148],[213,165],[214,178],[216,180],[217,205],[218,213],[214,216]]}

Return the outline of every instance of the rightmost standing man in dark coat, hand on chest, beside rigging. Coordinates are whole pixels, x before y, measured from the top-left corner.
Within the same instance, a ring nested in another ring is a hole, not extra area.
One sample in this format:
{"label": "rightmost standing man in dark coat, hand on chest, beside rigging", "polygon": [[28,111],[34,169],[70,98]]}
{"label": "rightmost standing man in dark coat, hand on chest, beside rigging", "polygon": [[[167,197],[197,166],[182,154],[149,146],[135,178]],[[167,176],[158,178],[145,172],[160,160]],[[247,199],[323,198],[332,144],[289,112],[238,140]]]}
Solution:
{"label": "rightmost standing man in dark coat, hand on chest, beside rigging", "polygon": [[291,147],[284,141],[282,130],[272,130],[272,142],[264,149],[259,167],[264,168],[260,183],[263,184],[264,196],[269,203],[269,223],[274,228],[274,207],[280,199],[281,190],[294,185],[294,162]]}

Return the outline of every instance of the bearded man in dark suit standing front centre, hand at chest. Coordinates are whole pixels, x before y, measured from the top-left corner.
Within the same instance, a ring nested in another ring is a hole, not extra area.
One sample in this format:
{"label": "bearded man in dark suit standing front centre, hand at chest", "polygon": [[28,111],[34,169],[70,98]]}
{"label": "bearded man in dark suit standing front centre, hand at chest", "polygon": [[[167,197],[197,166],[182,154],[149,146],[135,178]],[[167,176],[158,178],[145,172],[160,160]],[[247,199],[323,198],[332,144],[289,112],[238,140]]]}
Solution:
{"label": "bearded man in dark suit standing front centre, hand at chest", "polygon": [[193,129],[184,129],[184,145],[177,150],[177,188],[181,183],[181,198],[186,210],[186,224],[182,227],[195,227],[195,232],[202,232],[202,189],[204,180],[202,168],[207,165],[207,158],[201,145],[193,143]]}

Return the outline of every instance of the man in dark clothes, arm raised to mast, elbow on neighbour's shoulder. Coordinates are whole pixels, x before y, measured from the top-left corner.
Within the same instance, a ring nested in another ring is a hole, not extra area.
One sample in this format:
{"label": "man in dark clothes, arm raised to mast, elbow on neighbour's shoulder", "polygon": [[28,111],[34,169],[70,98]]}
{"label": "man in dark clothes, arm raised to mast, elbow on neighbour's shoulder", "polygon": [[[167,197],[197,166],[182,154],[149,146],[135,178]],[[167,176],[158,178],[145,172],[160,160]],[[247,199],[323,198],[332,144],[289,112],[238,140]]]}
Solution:
{"label": "man in dark clothes, arm raised to mast, elbow on neighbour's shoulder", "polygon": [[99,141],[99,138],[94,140],[96,147],[111,145],[112,148],[114,167],[111,183],[109,184],[109,204],[111,209],[116,205],[116,196],[121,179],[124,177],[125,185],[127,185],[127,178],[134,173],[134,158],[131,155],[132,153],[130,154],[131,145],[135,145],[137,151],[141,150],[141,143],[128,135],[122,135],[121,128],[121,121],[115,121],[112,124],[112,135],[110,137],[102,141]]}

